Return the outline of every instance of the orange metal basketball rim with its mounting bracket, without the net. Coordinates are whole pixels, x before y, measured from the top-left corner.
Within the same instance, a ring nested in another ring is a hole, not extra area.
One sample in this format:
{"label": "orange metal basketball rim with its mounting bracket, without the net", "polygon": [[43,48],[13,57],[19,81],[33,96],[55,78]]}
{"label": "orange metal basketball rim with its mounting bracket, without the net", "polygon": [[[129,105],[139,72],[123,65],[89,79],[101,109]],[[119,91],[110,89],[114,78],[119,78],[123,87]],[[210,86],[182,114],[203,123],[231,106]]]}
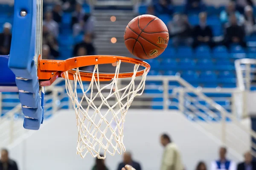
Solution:
{"label": "orange metal basketball rim with its mounting bracket, without the net", "polygon": [[[150,65],[140,59],[134,59],[130,57],[121,56],[108,56],[108,55],[94,55],[94,56],[80,56],[73,57],[66,60],[49,60],[49,59],[38,59],[38,79],[41,86],[51,85],[55,79],[58,77],[65,78],[64,72],[68,71],[68,77],[73,80],[73,75],[76,73],[74,68],[96,65],[96,64],[112,64],[114,62],[127,62],[131,64],[140,64],[145,67],[147,71],[150,70]],[[136,77],[142,76],[144,70],[137,71]],[[118,78],[128,78],[134,75],[133,72],[130,73],[119,73]],[[91,81],[93,73],[92,72],[80,72],[82,81]],[[99,81],[110,81],[113,79],[115,74],[99,73]],[[96,79],[98,79],[97,74],[95,74]]]}

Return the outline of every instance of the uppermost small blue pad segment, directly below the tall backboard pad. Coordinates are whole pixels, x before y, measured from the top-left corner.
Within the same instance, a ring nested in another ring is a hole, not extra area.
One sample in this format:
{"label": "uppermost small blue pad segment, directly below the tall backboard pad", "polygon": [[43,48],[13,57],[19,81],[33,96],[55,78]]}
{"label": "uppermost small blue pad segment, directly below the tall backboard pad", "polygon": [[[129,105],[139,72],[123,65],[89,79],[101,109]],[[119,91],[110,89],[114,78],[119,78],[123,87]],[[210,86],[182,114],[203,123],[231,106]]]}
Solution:
{"label": "uppermost small blue pad segment, directly below the tall backboard pad", "polygon": [[20,80],[16,79],[19,90],[28,91],[30,93],[38,93],[39,85],[37,79]]}

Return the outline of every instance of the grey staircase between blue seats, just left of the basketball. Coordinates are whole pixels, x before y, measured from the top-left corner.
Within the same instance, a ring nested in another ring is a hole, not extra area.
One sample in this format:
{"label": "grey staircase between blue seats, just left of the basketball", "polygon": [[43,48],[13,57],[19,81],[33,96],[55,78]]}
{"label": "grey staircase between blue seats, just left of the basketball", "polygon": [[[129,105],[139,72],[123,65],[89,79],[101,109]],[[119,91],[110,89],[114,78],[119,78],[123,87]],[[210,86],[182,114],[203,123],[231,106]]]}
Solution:
{"label": "grey staircase between blue seats, just left of the basketball", "polygon": [[[93,16],[96,18],[94,44],[99,55],[118,55],[133,57],[124,43],[124,31],[128,23],[135,17],[130,10],[95,10]],[[116,17],[111,22],[111,16]],[[116,38],[116,43],[111,43],[111,38]]]}

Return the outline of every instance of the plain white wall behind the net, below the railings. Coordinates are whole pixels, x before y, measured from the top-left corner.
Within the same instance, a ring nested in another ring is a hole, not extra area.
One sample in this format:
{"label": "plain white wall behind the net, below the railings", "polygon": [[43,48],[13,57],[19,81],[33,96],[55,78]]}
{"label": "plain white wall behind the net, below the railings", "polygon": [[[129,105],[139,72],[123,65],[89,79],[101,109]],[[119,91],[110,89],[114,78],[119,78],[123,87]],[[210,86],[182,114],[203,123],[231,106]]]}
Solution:
{"label": "plain white wall behind the net, below the railings", "polygon": [[[216,126],[216,128],[218,128]],[[232,129],[232,128],[231,128]],[[234,129],[236,130],[236,129]],[[167,132],[180,147],[187,170],[194,170],[199,160],[209,165],[218,157],[219,140],[202,130],[198,124],[187,120],[177,111],[129,110],[125,121],[124,143],[143,170],[159,170],[163,148],[159,144],[161,133]],[[236,131],[236,136],[239,137]],[[249,148],[249,136],[243,136]],[[21,170],[90,170],[94,159],[76,155],[77,129],[74,111],[61,111],[25,142],[10,148],[11,157]],[[241,155],[229,150],[228,157],[235,161]],[[108,155],[106,163],[115,170],[122,157]]]}

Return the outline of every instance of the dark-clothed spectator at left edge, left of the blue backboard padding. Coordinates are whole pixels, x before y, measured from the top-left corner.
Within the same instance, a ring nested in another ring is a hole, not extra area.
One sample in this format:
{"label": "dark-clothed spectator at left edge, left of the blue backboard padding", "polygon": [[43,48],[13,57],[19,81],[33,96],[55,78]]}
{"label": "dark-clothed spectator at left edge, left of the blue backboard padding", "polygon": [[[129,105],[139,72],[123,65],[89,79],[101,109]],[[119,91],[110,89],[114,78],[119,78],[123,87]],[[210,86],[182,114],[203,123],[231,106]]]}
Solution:
{"label": "dark-clothed spectator at left edge, left of the blue backboard padding", "polygon": [[12,41],[12,24],[3,25],[3,33],[0,34],[0,55],[9,55]]}

